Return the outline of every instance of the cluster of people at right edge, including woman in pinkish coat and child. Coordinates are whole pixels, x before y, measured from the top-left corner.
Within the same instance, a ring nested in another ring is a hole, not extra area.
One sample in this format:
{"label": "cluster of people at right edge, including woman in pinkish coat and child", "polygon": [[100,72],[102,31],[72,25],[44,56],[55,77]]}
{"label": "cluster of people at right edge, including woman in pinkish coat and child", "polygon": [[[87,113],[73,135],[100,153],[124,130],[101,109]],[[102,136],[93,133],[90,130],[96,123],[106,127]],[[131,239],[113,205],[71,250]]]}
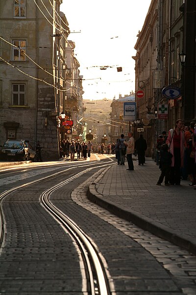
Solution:
{"label": "cluster of people at right edge, including woman in pinkish coat and child", "polygon": [[161,169],[157,185],[165,177],[165,185],[180,185],[181,179],[189,179],[196,189],[196,122],[185,126],[182,119],[175,127],[162,132],[157,139],[156,164]]}

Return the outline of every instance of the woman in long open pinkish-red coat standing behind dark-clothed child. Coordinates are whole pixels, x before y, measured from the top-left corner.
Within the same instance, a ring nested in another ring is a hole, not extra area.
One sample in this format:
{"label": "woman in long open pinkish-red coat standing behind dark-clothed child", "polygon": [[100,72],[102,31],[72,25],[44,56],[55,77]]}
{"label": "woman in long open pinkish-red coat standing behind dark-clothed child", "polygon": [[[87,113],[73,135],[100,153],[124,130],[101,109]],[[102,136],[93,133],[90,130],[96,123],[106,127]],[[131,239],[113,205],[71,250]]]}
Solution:
{"label": "woman in long open pinkish-red coat standing behind dark-clothed child", "polygon": [[170,183],[175,185],[180,185],[180,169],[184,165],[184,148],[187,147],[184,132],[181,130],[181,127],[182,119],[177,119],[174,129],[172,128],[169,130],[166,140],[167,145],[170,147],[170,152],[172,153]]}

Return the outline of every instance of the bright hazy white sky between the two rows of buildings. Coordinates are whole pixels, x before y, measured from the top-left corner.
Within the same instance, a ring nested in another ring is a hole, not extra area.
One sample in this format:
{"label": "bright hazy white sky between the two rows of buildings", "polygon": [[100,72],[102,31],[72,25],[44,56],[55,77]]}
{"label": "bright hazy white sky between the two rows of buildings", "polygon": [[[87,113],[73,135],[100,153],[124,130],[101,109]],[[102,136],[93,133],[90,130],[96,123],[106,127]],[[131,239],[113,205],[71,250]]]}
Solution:
{"label": "bright hazy white sky between the two rows of buildings", "polygon": [[[83,75],[83,99],[113,99],[135,91],[134,46],[151,0],[63,0]],[[80,31],[77,33],[78,31]],[[101,70],[101,66],[108,66]],[[117,67],[123,71],[118,72]]]}

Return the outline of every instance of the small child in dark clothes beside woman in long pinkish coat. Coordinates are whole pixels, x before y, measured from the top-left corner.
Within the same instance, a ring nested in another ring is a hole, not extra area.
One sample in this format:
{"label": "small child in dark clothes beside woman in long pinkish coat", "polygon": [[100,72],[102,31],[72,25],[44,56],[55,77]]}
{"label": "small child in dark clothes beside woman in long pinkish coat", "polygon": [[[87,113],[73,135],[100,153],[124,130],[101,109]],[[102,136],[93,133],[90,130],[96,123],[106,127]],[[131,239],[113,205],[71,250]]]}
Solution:
{"label": "small child in dark clothes beside woman in long pinkish coat", "polygon": [[165,177],[165,185],[171,185],[169,183],[170,180],[170,171],[171,171],[171,164],[172,164],[172,154],[169,151],[169,147],[167,144],[163,144],[160,150],[160,166],[161,175],[156,185],[161,185],[163,179]]}

